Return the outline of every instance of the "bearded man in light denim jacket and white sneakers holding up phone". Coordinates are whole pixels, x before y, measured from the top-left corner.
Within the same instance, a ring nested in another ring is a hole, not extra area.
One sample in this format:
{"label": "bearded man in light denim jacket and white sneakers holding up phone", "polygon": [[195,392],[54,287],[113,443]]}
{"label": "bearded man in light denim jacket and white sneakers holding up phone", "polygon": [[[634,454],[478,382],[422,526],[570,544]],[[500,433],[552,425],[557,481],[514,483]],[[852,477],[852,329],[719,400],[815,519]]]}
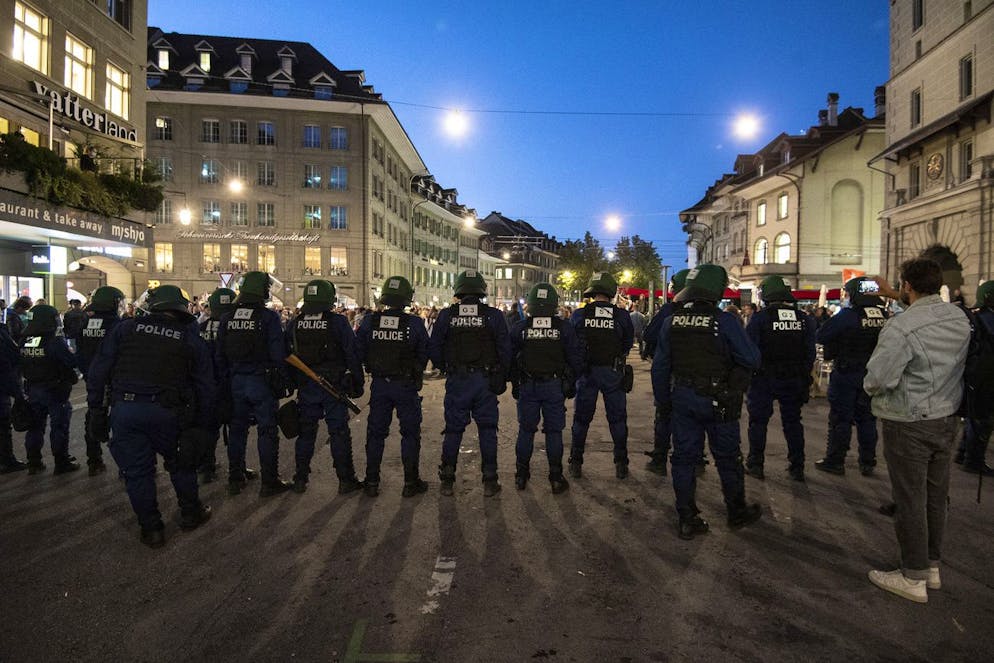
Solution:
{"label": "bearded man in light denim jacket and white sneakers holding up phone", "polygon": [[959,438],[956,411],[970,323],[959,307],[939,297],[937,263],[916,258],[900,272],[900,292],[876,279],[880,294],[907,308],[880,332],[863,389],[873,398],[873,414],[883,420],[901,568],[870,571],[869,578],[881,589],[926,603],[926,590],[941,587],[949,462]]}

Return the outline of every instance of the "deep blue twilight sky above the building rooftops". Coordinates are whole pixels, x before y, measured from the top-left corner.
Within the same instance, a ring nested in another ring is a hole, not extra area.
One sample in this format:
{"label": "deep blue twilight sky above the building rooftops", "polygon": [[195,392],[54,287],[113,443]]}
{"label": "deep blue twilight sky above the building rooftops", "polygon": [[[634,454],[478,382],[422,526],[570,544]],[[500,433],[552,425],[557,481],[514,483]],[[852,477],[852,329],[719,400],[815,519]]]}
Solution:
{"label": "deep blue twilight sky above the building rooftops", "polygon": [[[830,91],[872,115],[887,12],[887,0],[149,0],[166,32],[307,41],[364,69],[437,180],[481,216],[611,246],[639,234],[677,268],[676,213],[736,154],[815,124]],[[453,140],[425,106],[487,112]],[[730,131],[743,111],[762,119],[752,141]],[[612,213],[620,233],[604,229]]]}

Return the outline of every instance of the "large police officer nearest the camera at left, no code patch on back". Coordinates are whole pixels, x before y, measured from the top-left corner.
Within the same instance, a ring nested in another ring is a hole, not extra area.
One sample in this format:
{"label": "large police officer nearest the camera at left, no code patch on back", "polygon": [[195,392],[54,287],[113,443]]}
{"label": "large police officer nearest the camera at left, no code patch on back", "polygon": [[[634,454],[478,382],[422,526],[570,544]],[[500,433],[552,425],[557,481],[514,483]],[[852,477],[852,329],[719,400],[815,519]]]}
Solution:
{"label": "large police officer nearest the camera at left, no code patch on back", "polygon": [[180,528],[196,529],[211,515],[197,490],[197,422],[214,407],[214,371],[207,345],[191,325],[190,299],[173,285],[148,292],[147,315],[122,321],[104,338],[87,373],[90,426],[106,437],[98,414],[110,391],[110,452],[124,475],[140,540],[165,543],[155,489],[155,457],[162,456],[180,507]]}

